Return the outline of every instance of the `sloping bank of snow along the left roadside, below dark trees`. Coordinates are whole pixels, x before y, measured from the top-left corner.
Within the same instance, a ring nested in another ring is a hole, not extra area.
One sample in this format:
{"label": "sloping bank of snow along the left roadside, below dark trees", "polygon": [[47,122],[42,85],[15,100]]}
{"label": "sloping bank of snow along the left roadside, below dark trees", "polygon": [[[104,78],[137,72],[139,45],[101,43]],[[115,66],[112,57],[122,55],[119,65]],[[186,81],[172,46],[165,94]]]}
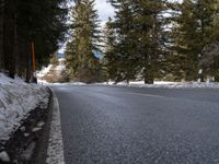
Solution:
{"label": "sloping bank of snow along the left roadside, below dark trees", "polygon": [[48,105],[47,87],[26,84],[0,73],[0,140],[9,140],[28,113]]}

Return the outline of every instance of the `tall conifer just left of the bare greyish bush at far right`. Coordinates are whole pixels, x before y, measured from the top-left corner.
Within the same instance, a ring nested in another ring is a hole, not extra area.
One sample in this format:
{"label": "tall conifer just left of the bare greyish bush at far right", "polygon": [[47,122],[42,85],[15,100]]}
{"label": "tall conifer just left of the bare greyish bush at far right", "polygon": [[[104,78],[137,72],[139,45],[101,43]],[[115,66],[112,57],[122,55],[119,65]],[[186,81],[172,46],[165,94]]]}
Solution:
{"label": "tall conifer just left of the bare greyish bush at far right", "polygon": [[[184,0],[175,33],[176,51],[182,60],[184,79],[197,79],[203,48],[211,39],[210,25],[216,14],[216,0]],[[205,70],[204,70],[205,73]]]}

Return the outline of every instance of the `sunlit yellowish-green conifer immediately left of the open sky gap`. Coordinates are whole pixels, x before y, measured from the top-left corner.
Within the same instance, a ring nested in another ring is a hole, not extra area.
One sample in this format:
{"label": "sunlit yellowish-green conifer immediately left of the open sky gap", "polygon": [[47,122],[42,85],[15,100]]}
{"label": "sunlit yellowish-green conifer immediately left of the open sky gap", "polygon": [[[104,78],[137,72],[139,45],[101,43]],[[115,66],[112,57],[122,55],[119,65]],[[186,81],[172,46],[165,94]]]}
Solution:
{"label": "sunlit yellowish-green conifer immediately left of the open sky gap", "polygon": [[71,11],[72,36],[67,47],[68,68],[76,75],[74,80],[85,83],[99,81],[101,74],[100,59],[95,57],[95,52],[101,51],[101,31],[94,4],[94,0],[76,2]]}

